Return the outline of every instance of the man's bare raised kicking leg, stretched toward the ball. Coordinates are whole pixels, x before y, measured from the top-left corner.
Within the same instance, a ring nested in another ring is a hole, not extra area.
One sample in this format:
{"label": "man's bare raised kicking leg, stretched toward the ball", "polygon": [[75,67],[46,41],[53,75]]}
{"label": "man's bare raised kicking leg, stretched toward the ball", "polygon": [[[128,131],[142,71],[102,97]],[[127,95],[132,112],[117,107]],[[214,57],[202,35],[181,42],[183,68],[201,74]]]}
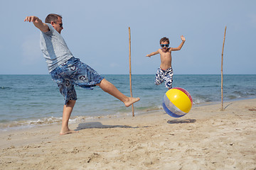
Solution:
{"label": "man's bare raised kicking leg, stretched toward the ball", "polygon": [[96,85],[100,86],[100,88],[108,94],[111,94],[115,98],[118,98],[127,107],[131,106],[132,103],[135,103],[140,100],[140,98],[132,98],[125,96],[113,84],[111,84],[110,81],[107,81],[106,79],[102,79],[102,81],[100,81],[100,84]]}

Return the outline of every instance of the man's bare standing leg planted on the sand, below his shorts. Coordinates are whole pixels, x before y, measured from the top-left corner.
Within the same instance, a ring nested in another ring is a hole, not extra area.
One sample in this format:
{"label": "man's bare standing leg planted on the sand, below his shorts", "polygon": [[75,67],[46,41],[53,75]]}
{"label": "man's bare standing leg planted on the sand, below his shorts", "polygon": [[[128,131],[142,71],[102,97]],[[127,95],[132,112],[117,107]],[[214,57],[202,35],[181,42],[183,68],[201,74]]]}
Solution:
{"label": "man's bare standing leg planted on the sand, below his shorts", "polygon": [[62,121],[61,130],[60,130],[60,135],[77,132],[74,130],[70,130],[68,128],[68,120],[70,118],[70,115],[73,111],[74,106],[75,106],[75,101],[68,101],[68,103],[63,107],[63,121]]}

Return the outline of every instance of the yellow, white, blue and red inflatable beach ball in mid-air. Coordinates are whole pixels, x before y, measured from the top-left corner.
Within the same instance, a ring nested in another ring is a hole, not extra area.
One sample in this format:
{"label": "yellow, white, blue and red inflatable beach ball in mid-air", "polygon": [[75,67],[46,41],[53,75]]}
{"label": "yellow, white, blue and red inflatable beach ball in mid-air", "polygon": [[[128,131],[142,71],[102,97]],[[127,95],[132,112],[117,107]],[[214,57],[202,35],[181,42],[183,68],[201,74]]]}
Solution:
{"label": "yellow, white, blue and red inflatable beach ball in mid-air", "polygon": [[186,115],[191,110],[192,105],[192,97],[185,89],[174,87],[164,94],[164,111],[174,118]]}

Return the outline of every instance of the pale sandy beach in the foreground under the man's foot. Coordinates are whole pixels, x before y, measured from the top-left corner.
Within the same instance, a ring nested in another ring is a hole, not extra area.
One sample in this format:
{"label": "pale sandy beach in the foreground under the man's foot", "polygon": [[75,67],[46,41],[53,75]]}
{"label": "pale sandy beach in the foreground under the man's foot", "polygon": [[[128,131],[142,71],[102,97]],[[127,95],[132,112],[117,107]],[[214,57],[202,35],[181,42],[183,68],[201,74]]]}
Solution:
{"label": "pale sandy beach in the foreground under the man's foot", "polygon": [[1,132],[0,169],[256,169],[256,99],[224,106]]}

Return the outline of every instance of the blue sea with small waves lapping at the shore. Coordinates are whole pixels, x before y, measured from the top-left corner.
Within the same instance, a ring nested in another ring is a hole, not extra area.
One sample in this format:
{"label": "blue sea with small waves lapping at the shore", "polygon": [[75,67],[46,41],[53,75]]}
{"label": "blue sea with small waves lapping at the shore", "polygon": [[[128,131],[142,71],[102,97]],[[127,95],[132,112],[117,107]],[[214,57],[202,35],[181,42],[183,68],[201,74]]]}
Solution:
{"label": "blue sea with small waves lapping at the shore", "polygon": [[[103,75],[123,94],[130,96],[129,74]],[[193,98],[193,107],[220,103],[221,75],[174,75],[173,87],[181,87]],[[78,101],[70,123],[98,118],[132,116],[132,107],[105,93],[75,87]],[[153,74],[132,75],[132,95],[141,101],[134,104],[135,116],[163,111],[162,100],[168,89],[154,84]],[[256,74],[223,76],[224,102],[256,98]],[[64,98],[50,75],[0,75],[0,131],[32,128],[61,123]],[[188,113],[189,114],[189,113]]]}

